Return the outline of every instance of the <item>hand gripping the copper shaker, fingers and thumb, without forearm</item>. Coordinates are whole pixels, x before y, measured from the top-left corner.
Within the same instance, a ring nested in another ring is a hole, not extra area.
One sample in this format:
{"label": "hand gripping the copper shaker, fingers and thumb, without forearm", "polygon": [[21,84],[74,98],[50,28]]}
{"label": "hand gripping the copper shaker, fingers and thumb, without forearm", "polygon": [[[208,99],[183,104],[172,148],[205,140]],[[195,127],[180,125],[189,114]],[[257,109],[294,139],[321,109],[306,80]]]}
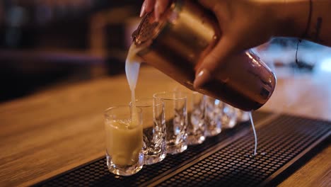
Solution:
{"label": "hand gripping the copper shaker, fingers and thumb, without forearm", "polygon": [[[276,1],[276,0],[275,0]],[[282,2],[282,0],[279,0]],[[270,2],[270,1],[267,1]],[[256,0],[200,0],[199,3],[213,11],[221,29],[221,40],[209,52],[196,72],[194,87],[198,88],[212,79],[222,62],[238,52],[267,42],[277,30],[277,17],[271,3]],[[156,21],[169,0],[145,0],[141,15],[154,11]]]}

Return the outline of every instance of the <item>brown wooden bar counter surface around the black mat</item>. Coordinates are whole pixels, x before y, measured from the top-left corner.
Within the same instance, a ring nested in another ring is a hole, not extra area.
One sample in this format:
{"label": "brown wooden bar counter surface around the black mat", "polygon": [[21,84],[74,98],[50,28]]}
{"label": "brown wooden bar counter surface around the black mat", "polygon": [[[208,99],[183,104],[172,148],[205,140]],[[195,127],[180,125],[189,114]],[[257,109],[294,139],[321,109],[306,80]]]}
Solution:
{"label": "brown wooden bar counter surface around the black mat", "polygon": [[[144,66],[137,98],[172,90],[175,81]],[[0,104],[0,186],[30,186],[102,157],[103,111],[125,105],[124,74],[58,85]],[[331,120],[331,72],[278,77],[274,95],[261,111]],[[331,186],[331,147],[323,149],[280,186]]]}

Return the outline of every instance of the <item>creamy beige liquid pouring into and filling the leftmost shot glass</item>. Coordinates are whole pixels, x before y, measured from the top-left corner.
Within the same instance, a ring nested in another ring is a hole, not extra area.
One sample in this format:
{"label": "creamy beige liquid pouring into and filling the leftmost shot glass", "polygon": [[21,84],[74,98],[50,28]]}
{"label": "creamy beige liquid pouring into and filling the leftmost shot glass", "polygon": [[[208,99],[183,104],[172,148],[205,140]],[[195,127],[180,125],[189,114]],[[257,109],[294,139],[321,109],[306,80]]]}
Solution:
{"label": "creamy beige liquid pouring into and filling the leftmost shot glass", "polygon": [[132,119],[128,121],[114,120],[106,124],[109,139],[106,146],[114,164],[131,165],[136,163],[142,149],[143,130],[138,121],[134,93],[140,67],[140,60],[136,54],[136,46],[131,45],[125,62],[125,72],[131,90]]}

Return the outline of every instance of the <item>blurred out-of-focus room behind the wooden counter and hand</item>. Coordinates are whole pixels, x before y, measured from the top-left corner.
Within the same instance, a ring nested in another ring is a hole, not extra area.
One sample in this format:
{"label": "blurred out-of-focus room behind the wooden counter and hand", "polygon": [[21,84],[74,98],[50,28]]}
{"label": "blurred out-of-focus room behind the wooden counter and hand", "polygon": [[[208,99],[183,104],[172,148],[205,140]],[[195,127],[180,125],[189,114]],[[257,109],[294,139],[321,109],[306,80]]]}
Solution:
{"label": "blurred out-of-focus room behind the wooden counter and hand", "polygon": [[[137,28],[142,0],[1,0],[0,102],[49,86],[114,76]],[[274,38],[255,48],[274,69],[290,74],[331,73],[331,50]],[[316,68],[318,67],[318,68]]]}

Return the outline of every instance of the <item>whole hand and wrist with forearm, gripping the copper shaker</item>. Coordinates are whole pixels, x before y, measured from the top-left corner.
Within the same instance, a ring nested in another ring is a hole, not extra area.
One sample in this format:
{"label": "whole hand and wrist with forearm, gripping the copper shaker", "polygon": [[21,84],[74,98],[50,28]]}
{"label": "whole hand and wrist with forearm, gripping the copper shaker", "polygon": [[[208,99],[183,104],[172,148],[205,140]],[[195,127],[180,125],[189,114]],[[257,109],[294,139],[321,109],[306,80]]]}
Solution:
{"label": "whole hand and wrist with forearm, gripping the copper shaker", "polygon": [[[308,21],[309,0],[199,0],[216,16],[221,39],[197,67],[194,87],[207,83],[231,56],[267,42],[272,36],[318,38],[315,42],[331,46],[331,1],[313,1]],[[141,16],[154,11],[156,21],[170,0],[145,0]],[[320,28],[318,21],[321,22]],[[308,27],[307,24],[310,23]],[[322,26],[322,27],[321,27]],[[319,33],[316,34],[316,33]],[[314,37],[312,37],[314,36]]]}

